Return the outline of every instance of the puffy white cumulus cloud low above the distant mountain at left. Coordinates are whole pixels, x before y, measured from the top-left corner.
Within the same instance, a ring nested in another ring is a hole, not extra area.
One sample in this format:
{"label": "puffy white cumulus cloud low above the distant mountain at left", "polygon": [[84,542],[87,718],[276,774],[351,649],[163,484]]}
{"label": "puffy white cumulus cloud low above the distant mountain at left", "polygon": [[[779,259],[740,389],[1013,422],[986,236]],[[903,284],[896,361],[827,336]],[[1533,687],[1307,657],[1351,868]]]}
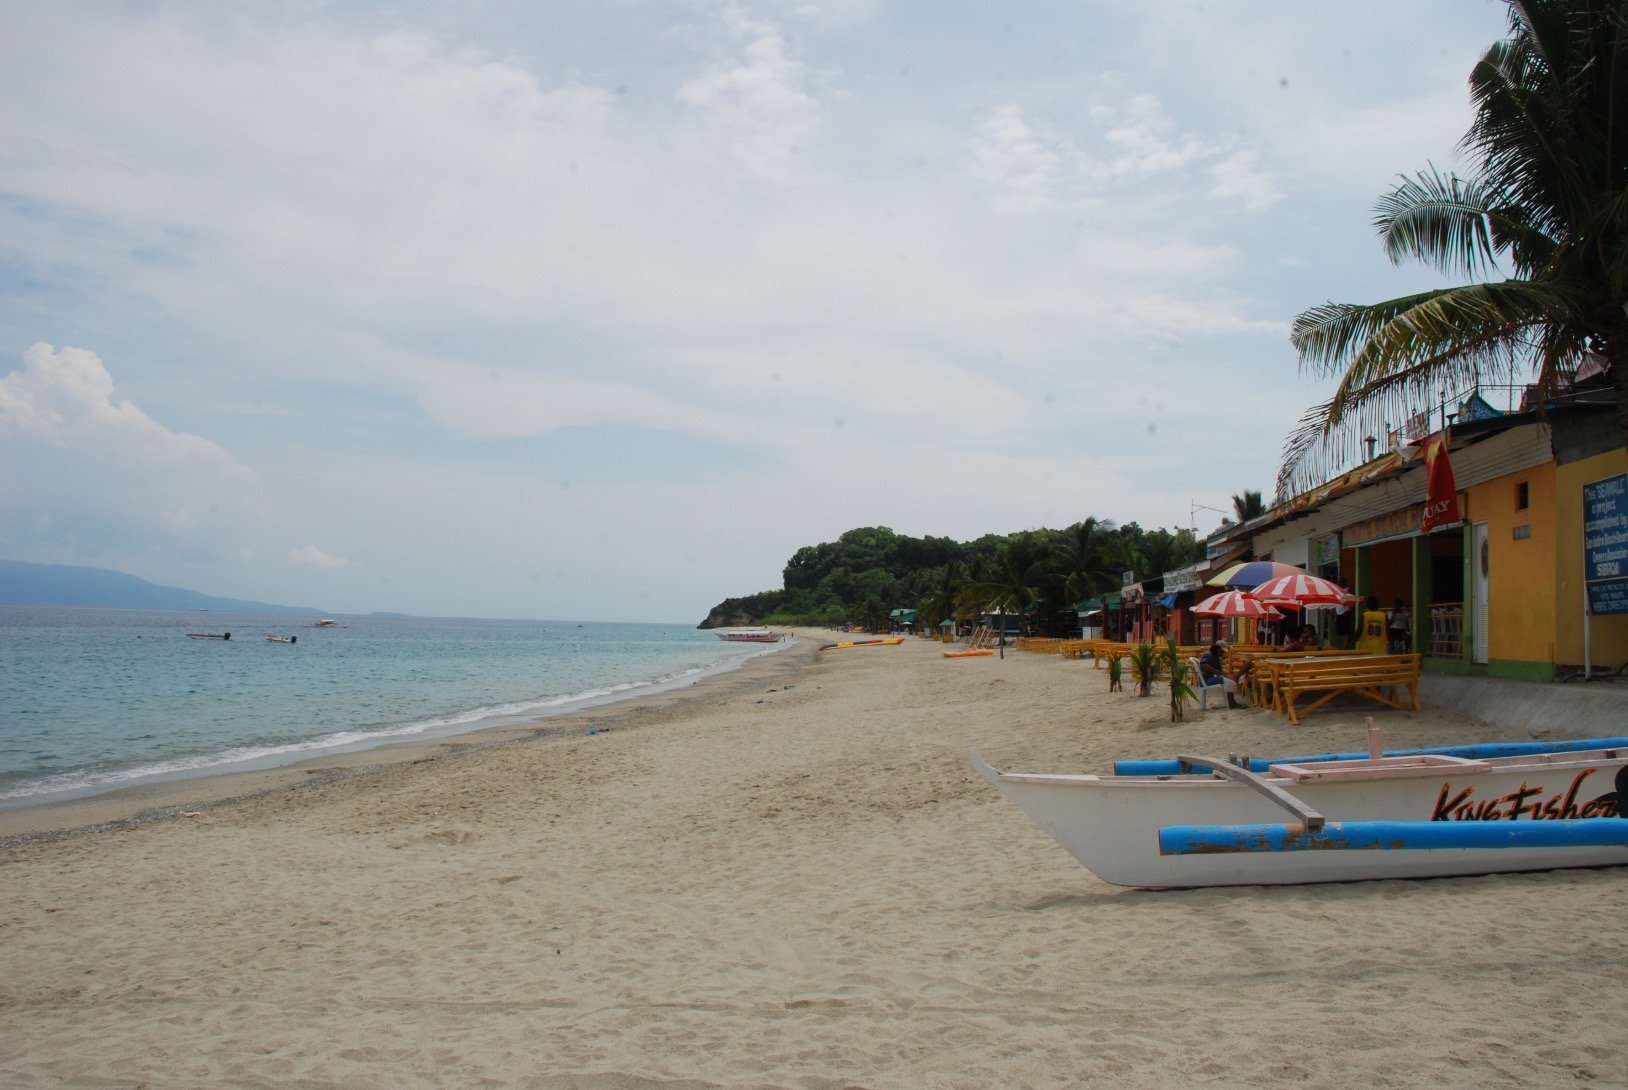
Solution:
{"label": "puffy white cumulus cloud low above the distant mountain at left", "polygon": [[0,379],[0,543],[83,558],[243,545],[259,483],[225,449],[116,395],[96,353],[36,343]]}

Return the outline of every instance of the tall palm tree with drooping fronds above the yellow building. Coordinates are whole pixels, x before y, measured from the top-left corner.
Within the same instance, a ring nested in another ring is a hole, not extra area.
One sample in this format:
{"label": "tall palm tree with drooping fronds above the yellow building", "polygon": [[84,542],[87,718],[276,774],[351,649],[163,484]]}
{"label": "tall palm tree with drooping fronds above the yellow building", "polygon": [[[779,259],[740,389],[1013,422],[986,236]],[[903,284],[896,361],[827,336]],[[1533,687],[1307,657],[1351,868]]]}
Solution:
{"label": "tall palm tree with drooping fronds above the yellow building", "polygon": [[[1548,399],[1586,355],[1608,364],[1628,433],[1628,5],[1508,0],[1509,37],[1470,73],[1468,177],[1403,177],[1376,208],[1392,262],[1472,283],[1294,320],[1301,369],[1338,377],[1289,436],[1280,496],[1354,460],[1363,433],[1478,381],[1535,374]],[[1491,280],[1501,262],[1506,280]],[[1333,439],[1335,428],[1343,428]]]}

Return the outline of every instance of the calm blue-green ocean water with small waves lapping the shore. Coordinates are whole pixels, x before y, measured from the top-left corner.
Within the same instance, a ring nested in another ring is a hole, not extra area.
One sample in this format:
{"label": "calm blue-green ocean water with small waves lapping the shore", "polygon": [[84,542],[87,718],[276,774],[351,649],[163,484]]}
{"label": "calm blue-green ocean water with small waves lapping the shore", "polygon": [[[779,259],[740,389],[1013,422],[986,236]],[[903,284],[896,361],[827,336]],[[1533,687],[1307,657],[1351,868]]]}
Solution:
{"label": "calm blue-green ocean water with small waves lapping the shore", "polygon": [[0,605],[0,807],[524,722],[765,652],[682,625],[335,620]]}

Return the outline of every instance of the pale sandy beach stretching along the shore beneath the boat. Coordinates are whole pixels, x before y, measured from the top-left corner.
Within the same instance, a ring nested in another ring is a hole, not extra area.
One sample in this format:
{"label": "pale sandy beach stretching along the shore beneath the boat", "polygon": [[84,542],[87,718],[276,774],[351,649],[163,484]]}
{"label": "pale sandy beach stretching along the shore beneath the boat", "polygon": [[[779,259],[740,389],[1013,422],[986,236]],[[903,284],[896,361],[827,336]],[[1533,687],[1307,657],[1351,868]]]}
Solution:
{"label": "pale sandy beach stretching along the shore beneath the boat", "polygon": [[822,638],[536,727],[0,815],[0,1083],[1623,1083],[1625,869],[1125,890],[967,761],[1517,732],[1171,724],[1089,662]]}

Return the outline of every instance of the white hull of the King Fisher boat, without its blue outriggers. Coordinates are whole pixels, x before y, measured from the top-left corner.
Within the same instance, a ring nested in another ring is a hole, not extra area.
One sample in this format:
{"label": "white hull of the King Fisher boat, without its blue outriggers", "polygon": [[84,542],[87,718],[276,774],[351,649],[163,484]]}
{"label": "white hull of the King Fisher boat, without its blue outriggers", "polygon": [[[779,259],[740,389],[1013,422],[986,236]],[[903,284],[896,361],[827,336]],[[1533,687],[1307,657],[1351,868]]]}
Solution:
{"label": "white hull of the King Fisher boat, without its blue outriggers", "polygon": [[[1159,830],[1298,822],[1249,784],[1216,776],[1003,773],[974,768],[1104,882],[1131,887],[1284,885],[1553,870],[1628,864],[1628,846],[1385,848],[1161,854]],[[1618,817],[1628,750],[1468,761],[1402,776],[1265,776],[1328,822],[1561,820]],[[1618,776],[1618,773],[1623,773]],[[1628,839],[1628,825],[1625,825]]]}

